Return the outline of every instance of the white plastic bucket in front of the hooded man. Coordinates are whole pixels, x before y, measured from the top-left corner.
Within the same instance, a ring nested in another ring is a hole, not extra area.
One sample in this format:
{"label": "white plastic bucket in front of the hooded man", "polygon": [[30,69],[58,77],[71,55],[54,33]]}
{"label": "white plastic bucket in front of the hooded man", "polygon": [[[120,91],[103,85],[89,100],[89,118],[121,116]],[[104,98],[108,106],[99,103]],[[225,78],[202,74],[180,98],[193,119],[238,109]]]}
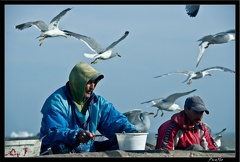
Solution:
{"label": "white plastic bucket in front of the hooded man", "polygon": [[120,150],[145,150],[148,133],[116,133]]}

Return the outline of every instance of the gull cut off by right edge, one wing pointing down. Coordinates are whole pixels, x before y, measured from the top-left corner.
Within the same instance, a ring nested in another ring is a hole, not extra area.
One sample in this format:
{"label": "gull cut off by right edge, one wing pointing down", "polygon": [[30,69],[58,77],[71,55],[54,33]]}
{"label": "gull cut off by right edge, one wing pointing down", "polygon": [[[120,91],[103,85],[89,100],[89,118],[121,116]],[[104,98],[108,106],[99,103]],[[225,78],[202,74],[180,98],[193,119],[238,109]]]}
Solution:
{"label": "gull cut off by right edge, one wing pointing down", "polygon": [[211,44],[223,44],[228,43],[230,41],[235,41],[235,29],[230,29],[225,32],[220,32],[215,35],[207,35],[199,39],[198,41],[201,41],[199,44],[199,54],[197,58],[197,64],[196,68],[198,67],[198,64],[200,60],[202,59],[203,52],[206,48],[208,48]]}

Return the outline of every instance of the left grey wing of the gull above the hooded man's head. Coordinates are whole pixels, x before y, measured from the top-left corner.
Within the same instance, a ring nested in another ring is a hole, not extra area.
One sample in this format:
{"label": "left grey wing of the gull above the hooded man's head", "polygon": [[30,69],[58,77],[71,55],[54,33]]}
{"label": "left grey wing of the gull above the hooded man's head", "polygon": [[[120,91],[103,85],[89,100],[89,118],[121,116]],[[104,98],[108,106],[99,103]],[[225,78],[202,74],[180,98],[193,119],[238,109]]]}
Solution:
{"label": "left grey wing of the gull above the hooded man's head", "polygon": [[104,49],[101,47],[100,44],[97,43],[96,40],[94,40],[93,38],[90,38],[88,36],[85,35],[81,35],[81,34],[77,34],[68,30],[63,30],[67,35],[70,35],[78,40],[81,40],[82,42],[84,42],[92,51],[96,52],[96,53],[101,53],[104,51]]}

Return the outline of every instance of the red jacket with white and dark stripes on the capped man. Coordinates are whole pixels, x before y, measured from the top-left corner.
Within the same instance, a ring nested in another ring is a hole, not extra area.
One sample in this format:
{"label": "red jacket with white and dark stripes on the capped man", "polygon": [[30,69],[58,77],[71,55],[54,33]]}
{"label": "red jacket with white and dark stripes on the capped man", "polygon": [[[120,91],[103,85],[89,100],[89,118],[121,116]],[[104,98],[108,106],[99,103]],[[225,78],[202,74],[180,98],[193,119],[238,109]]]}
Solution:
{"label": "red jacket with white and dark stripes on the capped man", "polygon": [[184,150],[193,144],[201,145],[204,150],[217,150],[207,128],[202,123],[190,126],[184,111],[174,114],[158,128],[158,150]]}

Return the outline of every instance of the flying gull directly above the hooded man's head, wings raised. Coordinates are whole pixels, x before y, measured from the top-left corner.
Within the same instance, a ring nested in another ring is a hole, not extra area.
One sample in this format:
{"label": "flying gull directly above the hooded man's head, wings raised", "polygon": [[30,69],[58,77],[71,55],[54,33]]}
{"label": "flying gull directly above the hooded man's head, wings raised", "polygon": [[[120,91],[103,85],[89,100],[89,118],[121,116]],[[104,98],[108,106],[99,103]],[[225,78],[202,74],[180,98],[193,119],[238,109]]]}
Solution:
{"label": "flying gull directly above the hooded man's head, wings raised", "polygon": [[110,44],[106,49],[103,49],[101,47],[101,45],[99,43],[97,43],[97,41],[94,40],[93,38],[90,38],[85,35],[80,35],[77,33],[69,32],[66,30],[65,30],[65,32],[68,33],[68,35],[75,37],[78,40],[83,41],[93,52],[95,52],[95,54],[84,53],[85,57],[94,59],[94,61],[92,61],[91,64],[96,64],[98,62],[98,60],[108,60],[115,56],[121,57],[121,55],[119,55],[117,52],[113,51],[113,47],[116,46],[120,41],[125,39],[127,37],[127,35],[129,34],[129,31],[126,31],[125,34],[120,39],[118,39],[117,41]]}

